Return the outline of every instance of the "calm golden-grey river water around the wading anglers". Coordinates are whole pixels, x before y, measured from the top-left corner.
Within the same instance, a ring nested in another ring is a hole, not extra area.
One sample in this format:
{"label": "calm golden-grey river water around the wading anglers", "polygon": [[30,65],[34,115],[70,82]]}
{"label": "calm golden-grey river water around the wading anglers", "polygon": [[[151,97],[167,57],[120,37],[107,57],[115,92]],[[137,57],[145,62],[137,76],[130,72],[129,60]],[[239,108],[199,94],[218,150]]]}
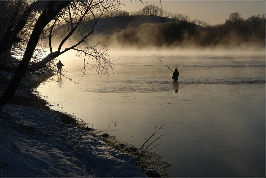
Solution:
{"label": "calm golden-grey river water around the wading anglers", "polygon": [[58,60],[69,65],[63,69],[78,84],[55,75],[60,83],[48,80],[38,90],[51,104],[59,104],[51,106],[54,110],[137,148],[146,134],[166,124],[157,153],[172,165],[169,176],[264,176],[264,51],[152,52],[172,70],[178,68],[178,83],[148,51],[112,52],[119,60],[110,78],[94,71],[81,78],[77,66],[82,60],[63,56]]}

